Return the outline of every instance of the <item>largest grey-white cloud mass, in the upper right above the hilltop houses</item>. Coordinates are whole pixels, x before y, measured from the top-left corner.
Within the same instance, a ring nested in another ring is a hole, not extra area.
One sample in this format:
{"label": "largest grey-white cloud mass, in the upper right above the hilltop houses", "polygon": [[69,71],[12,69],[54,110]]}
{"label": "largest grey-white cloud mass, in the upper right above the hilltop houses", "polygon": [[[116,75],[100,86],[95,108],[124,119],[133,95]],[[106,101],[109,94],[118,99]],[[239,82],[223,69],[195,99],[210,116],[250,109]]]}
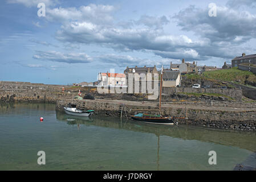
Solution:
{"label": "largest grey-white cloud mass, in the upper right above the hilltop houses", "polygon": [[245,49],[249,40],[256,37],[256,16],[248,11],[237,11],[217,6],[217,16],[210,17],[208,9],[189,6],[172,16],[181,30],[194,32],[205,44],[191,47],[201,58],[221,57],[231,59]]}

